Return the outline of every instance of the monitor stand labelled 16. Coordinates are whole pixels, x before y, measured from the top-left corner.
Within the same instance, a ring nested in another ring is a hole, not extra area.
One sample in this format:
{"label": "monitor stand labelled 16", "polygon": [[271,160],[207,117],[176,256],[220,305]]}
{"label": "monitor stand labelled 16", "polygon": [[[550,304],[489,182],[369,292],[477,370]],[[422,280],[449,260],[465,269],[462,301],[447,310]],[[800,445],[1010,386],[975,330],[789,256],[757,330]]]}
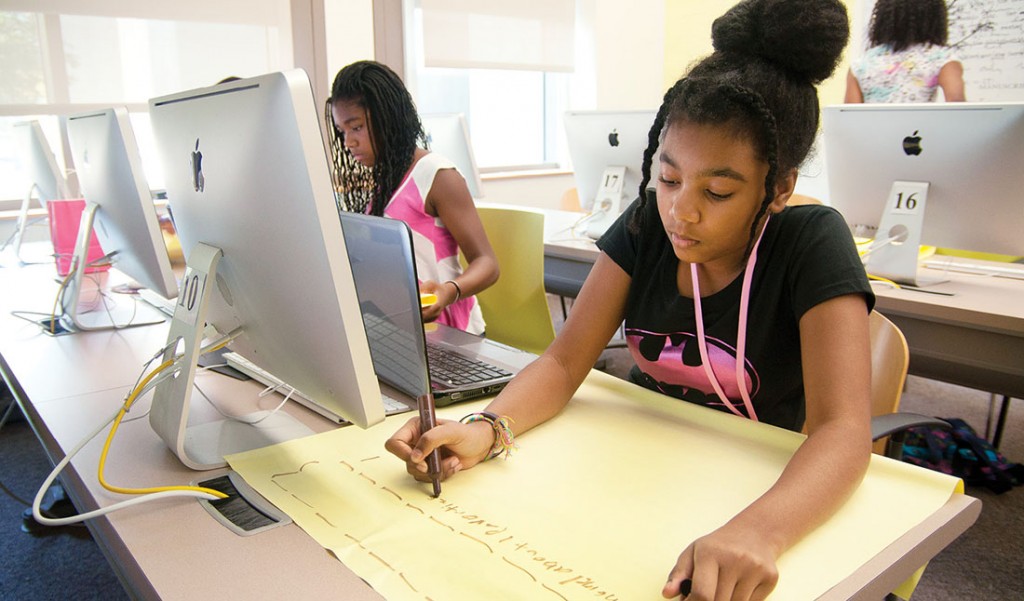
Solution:
{"label": "monitor stand labelled 16", "polygon": [[865,268],[897,284],[924,287],[945,282],[918,273],[921,233],[928,204],[927,181],[894,181]]}

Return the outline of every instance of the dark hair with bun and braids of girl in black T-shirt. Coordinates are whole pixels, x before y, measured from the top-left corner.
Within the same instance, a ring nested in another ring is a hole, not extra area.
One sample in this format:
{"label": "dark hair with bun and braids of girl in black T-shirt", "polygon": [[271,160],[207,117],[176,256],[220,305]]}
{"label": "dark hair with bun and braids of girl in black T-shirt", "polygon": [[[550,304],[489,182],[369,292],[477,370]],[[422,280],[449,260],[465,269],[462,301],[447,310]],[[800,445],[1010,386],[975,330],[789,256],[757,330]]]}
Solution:
{"label": "dark hair with bun and braids of girl in black T-shirt", "polygon": [[666,92],[648,133],[631,229],[646,226],[639,209],[649,202],[651,164],[667,127],[718,125],[749,139],[768,163],[750,248],[778,174],[800,167],[810,153],[820,119],[815,86],[836,70],[849,36],[840,0],[743,0],[715,19],[715,51]]}

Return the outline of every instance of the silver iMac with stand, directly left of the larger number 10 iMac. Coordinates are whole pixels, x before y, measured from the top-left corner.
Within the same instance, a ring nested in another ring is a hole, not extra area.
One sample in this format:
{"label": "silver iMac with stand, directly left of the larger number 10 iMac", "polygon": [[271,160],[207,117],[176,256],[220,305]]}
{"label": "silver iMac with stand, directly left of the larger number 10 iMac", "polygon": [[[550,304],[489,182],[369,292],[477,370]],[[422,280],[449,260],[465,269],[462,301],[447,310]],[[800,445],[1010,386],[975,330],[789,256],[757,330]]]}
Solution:
{"label": "silver iMac with stand, directly left of the larger number 10 iMac", "polygon": [[[93,233],[118,270],[142,287],[164,298],[176,296],[178,287],[142,174],[142,161],[127,110],[109,109],[69,117],[68,142],[85,197],[85,209],[71,262],[72,272],[60,295],[62,326],[88,331],[163,321],[162,313],[125,295],[111,295],[110,300],[104,299],[92,311],[80,310],[79,293]],[[113,299],[118,296],[130,300],[115,302]]]}

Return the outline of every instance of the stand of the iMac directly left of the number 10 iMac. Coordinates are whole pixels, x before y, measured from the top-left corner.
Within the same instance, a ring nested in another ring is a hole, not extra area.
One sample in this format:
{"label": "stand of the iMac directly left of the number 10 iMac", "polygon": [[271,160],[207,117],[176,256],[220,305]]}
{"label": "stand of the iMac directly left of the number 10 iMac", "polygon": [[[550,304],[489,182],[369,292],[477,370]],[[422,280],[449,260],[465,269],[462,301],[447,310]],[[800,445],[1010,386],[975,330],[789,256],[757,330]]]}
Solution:
{"label": "stand of the iMac directly left of the number 10 iMac", "polygon": [[[82,282],[89,267],[89,241],[92,239],[92,225],[95,221],[97,205],[87,202],[82,210],[82,220],[78,226],[78,238],[75,239],[75,254],[71,262],[71,278],[60,292],[60,308],[63,316],[61,325],[74,332],[92,332],[97,330],[119,330],[137,326],[161,324],[165,316],[146,303],[135,301],[130,297],[128,302],[118,303],[113,299],[100,299],[99,307],[88,312],[81,311],[79,300],[82,293]],[[48,324],[47,324],[48,326]]]}

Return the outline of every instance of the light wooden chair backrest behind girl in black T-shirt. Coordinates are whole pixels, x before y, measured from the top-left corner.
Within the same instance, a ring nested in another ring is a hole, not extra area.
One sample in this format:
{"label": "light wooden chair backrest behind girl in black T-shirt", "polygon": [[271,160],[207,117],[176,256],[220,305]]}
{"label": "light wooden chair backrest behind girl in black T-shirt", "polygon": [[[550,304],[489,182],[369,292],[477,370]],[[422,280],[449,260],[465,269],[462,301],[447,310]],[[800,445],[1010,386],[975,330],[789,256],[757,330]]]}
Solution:
{"label": "light wooden chair backrest behind girl in black T-shirt", "polygon": [[[899,411],[906,382],[910,351],[900,329],[878,311],[869,315],[871,340],[871,416]],[[874,442],[874,453],[885,455],[886,439]]]}

